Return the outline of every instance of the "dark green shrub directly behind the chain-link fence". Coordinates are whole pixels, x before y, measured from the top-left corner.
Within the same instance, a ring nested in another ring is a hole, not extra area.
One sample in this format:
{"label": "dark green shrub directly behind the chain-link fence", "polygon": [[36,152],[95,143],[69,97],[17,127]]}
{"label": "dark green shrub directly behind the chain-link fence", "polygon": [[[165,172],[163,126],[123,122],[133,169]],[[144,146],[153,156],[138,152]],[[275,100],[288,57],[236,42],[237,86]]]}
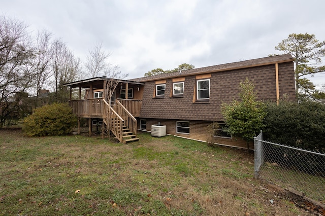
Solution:
{"label": "dark green shrub directly behind the chain-link fence", "polygon": [[310,151],[325,152],[325,105],[315,101],[270,103],[264,138]]}

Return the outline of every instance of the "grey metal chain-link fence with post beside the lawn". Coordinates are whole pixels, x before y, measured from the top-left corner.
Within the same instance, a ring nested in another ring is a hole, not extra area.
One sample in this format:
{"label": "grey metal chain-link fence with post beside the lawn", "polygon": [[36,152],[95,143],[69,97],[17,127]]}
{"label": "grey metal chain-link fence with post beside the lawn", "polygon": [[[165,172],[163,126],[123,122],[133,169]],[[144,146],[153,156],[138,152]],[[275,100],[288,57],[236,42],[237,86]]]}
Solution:
{"label": "grey metal chain-link fence with post beside the lawn", "polygon": [[254,153],[255,178],[325,203],[325,154],[265,141],[262,131]]}

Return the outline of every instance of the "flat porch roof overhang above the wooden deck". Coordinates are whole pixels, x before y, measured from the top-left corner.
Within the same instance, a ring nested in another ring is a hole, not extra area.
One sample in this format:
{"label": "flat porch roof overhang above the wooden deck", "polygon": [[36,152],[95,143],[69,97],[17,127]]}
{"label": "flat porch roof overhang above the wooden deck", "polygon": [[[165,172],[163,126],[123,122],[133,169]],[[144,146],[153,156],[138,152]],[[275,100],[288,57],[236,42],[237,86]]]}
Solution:
{"label": "flat porch roof overhang above the wooden deck", "polygon": [[135,85],[145,85],[144,83],[141,82],[135,82],[135,81],[129,81],[129,80],[117,80],[117,79],[111,79],[107,77],[94,77],[94,78],[89,78],[86,80],[80,80],[76,82],[71,82],[71,83],[65,83],[63,86],[70,86],[70,88],[90,88],[92,85],[92,88],[94,89],[100,89],[103,88],[103,83],[104,81],[109,81],[109,80],[114,80],[119,83],[128,83],[128,84],[135,84]]}

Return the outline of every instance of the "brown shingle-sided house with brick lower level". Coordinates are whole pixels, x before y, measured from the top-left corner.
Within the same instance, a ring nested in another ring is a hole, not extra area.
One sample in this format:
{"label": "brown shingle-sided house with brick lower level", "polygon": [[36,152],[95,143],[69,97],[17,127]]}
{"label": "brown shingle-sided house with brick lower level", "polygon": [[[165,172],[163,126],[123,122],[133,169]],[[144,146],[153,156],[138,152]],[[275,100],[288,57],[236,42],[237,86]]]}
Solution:
{"label": "brown shingle-sided house with brick lower level", "polygon": [[[258,99],[295,100],[293,61],[290,54],[277,55],[118,81],[115,90],[117,99],[112,110],[117,110],[121,103],[130,114],[135,114],[137,129],[150,131],[151,125],[166,125],[169,134],[202,141],[207,139],[207,126],[216,121],[220,127],[214,134],[215,143],[246,148],[245,141],[225,132],[221,101],[230,102],[236,97],[239,83],[246,78],[254,82]],[[71,88],[90,89],[91,99],[79,98],[78,106],[75,105],[75,100],[70,101],[79,117],[103,118],[102,113],[106,111],[100,111],[94,117],[81,115],[78,109],[85,109],[89,105],[86,101],[101,97],[107,80],[109,79],[92,78],[65,84]],[[103,109],[102,106],[99,109]]]}

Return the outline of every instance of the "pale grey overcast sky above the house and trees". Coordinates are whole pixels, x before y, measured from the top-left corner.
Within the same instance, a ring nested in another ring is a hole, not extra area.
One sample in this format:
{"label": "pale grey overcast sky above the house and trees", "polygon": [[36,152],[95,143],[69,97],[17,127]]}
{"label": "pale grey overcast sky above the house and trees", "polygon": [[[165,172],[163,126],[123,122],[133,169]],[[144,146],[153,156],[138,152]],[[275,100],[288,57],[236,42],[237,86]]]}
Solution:
{"label": "pale grey overcast sky above the house and trees", "polygon": [[[0,0],[0,14],[47,29],[82,61],[95,43],[129,79],[280,54],[290,33],[325,40],[323,0]],[[323,62],[325,63],[325,62]],[[311,79],[325,85],[325,74]]]}

